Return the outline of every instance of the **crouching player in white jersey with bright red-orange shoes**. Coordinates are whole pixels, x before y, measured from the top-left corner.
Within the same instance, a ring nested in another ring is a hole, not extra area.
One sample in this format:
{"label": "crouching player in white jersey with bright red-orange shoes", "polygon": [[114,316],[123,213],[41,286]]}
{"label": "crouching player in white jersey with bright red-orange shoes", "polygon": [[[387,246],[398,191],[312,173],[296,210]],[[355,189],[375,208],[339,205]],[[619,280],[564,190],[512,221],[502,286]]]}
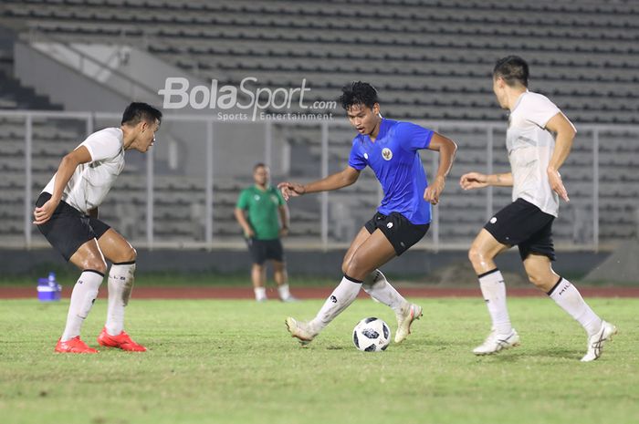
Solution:
{"label": "crouching player in white jersey with bright red-orange shoes", "polygon": [[120,128],[94,132],[62,158],[58,171],[37,199],[37,228],[68,262],[82,271],[71,294],[67,326],[56,352],[98,352],[79,336],[107,271],[105,259],[111,263],[109,306],[98,343],[127,351],[146,350],[124,331],[124,307],[133,286],[135,249],[98,219],[98,207],[124,168],[125,150],[149,150],[161,119],[160,110],[146,103],[131,103],[124,110]]}

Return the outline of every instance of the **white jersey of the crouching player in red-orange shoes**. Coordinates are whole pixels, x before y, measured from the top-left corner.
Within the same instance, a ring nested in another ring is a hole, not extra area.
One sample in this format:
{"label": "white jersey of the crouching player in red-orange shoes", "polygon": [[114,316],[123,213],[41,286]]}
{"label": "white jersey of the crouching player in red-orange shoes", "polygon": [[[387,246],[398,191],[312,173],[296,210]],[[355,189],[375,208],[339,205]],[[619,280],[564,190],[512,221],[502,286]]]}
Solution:
{"label": "white jersey of the crouching player in red-orange shoes", "polygon": [[[121,129],[108,128],[94,132],[80,143],[78,148],[86,147],[91,160],[78,165],[73,172],[62,193],[63,201],[84,213],[100,206],[124,168],[122,138]],[[53,194],[55,181],[56,175],[43,191]]]}

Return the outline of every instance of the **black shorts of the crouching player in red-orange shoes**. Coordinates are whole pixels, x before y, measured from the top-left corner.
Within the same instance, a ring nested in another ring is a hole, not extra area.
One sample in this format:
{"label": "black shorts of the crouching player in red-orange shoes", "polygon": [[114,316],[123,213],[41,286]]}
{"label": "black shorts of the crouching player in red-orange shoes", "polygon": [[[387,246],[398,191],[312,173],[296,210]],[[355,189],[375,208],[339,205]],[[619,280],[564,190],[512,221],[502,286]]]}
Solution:
{"label": "black shorts of the crouching player in red-orange shoes", "polygon": [[[51,199],[49,193],[41,193],[37,198],[36,206],[42,206],[49,199]],[[110,229],[110,226],[97,218],[90,218],[79,212],[67,202],[60,201],[51,219],[38,225],[37,229],[68,262],[73,253],[78,251],[79,246],[89,240],[99,239]]]}

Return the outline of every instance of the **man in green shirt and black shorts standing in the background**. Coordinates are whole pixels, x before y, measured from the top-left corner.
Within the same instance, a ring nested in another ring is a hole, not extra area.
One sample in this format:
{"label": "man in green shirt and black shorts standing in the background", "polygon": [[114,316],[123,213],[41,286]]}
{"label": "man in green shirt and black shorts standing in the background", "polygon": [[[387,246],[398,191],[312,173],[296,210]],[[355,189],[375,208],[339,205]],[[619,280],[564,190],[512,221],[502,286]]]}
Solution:
{"label": "man in green shirt and black shorts standing in the background", "polygon": [[269,170],[264,163],[253,167],[253,180],[255,184],[243,190],[237,199],[236,220],[242,226],[253,260],[251,280],[256,300],[267,300],[267,269],[264,263],[271,260],[279,298],[284,302],[295,301],[288,290],[284,250],[279,240],[288,234],[287,203],[278,189],[270,185]]}

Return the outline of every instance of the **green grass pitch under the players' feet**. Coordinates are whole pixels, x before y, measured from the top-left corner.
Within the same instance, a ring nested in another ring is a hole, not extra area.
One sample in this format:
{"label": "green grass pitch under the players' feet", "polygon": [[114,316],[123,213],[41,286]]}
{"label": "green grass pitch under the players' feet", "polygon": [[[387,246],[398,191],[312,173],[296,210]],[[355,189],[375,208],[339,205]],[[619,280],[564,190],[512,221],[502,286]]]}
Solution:
{"label": "green grass pitch under the players' feet", "polygon": [[[351,329],[364,316],[391,324],[383,305],[358,300],[306,348],[287,315],[320,301],[133,300],[127,329],[150,348],[95,356],[52,352],[67,303],[0,302],[3,423],[636,423],[637,299],[591,299],[620,334],[581,364],[580,326],[548,299],[510,299],[522,346],[494,357],[470,349],[487,335],[481,299],[416,299],[424,317],[403,345],[363,353]],[[106,303],[83,335],[95,346]]]}

